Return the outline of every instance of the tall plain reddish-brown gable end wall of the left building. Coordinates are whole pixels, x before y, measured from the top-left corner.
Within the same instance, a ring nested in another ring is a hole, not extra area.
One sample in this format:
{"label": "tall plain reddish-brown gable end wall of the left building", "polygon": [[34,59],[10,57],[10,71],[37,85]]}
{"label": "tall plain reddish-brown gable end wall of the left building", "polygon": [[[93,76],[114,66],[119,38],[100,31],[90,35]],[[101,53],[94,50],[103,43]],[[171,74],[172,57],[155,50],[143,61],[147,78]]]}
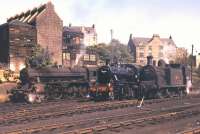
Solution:
{"label": "tall plain reddish-brown gable end wall of the left building", "polygon": [[53,63],[62,65],[63,22],[49,2],[46,9],[36,18],[37,43],[48,49]]}

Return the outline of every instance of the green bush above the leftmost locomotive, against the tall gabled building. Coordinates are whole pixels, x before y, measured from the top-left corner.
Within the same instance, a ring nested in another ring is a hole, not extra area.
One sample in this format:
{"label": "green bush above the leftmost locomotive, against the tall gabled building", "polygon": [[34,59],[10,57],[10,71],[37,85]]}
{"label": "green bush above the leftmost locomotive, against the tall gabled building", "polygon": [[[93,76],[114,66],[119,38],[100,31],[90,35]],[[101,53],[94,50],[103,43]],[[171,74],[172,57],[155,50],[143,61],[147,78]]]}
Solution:
{"label": "green bush above the leftmost locomotive, against the tall gabled building", "polygon": [[52,65],[48,49],[43,49],[40,45],[36,45],[33,50],[33,55],[27,59],[27,65],[33,68]]}

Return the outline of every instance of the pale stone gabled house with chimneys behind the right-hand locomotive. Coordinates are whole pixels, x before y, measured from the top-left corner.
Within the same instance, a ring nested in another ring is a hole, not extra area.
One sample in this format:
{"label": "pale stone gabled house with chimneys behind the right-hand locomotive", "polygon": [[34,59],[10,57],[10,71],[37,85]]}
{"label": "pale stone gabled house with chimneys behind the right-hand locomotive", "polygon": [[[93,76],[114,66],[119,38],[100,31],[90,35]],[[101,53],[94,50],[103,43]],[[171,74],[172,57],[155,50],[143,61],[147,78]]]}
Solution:
{"label": "pale stone gabled house with chimneys behind the right-hand locomotive", "polygon": [[154,34],[152,38],[144,38],[130,35],[128,49],[134,62],[140,65],[147,64],[147,56],[153,56],[154,65],[157,65],[160,59],[166,63],[174,62],[176,57],[176,45],[171,36],[160,38]]}

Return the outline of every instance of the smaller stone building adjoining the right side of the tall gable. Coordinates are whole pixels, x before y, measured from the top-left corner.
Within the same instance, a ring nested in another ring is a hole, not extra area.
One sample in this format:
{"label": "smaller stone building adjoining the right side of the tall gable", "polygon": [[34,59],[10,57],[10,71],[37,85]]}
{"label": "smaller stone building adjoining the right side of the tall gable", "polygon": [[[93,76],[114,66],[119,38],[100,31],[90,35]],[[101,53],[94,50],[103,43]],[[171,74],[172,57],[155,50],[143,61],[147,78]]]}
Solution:
{"label": "smaller stone building adjoining the right side of the tall gable", "polygon": [[84,33],[77,28],[63,28],[63,65],[96,65],[96,53],[86,49]]}

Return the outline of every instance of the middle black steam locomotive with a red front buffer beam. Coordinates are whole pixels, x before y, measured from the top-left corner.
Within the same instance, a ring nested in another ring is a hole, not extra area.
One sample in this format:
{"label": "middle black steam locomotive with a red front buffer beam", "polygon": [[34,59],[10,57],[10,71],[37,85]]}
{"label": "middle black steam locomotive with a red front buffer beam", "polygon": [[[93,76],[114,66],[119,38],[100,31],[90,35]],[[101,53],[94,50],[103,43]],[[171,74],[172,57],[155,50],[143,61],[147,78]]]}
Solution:
{"label": "middle black steam locomotive with a red front buffer beam", "polygon": [[102,66],[97,70],[97,82],[91,89],[94,99],[135,98],[138,93],[139,67],[132,64]]}

